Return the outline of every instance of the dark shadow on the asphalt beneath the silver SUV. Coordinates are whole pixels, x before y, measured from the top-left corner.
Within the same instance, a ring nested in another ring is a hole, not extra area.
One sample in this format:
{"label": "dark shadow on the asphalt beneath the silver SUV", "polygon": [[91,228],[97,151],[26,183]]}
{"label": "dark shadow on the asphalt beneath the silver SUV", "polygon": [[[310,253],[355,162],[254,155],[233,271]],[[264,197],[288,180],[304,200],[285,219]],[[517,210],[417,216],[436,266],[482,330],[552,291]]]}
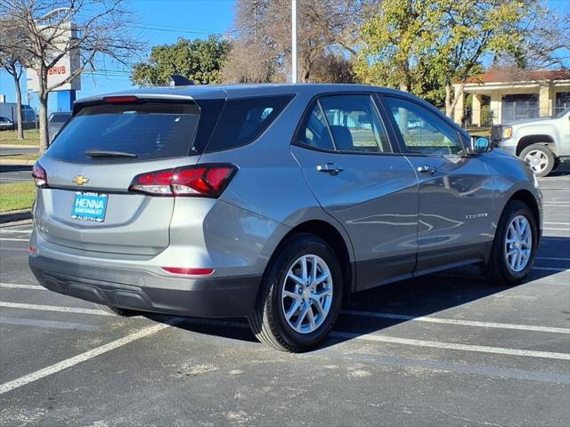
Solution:
{"label": "dark shadow on the asphalt beneath the silver SUV", "polygon": [[[570,238],[546,237],[543,238],[539,254],[541,257],[557,257],[569,252]],[[535,261],[534,266],[538,265],[542,265],[541,262]],[[567,262],[564,267],[552,267],[553,270],[533,270],[525,282],[511,287],[496,286],[489,283],[477,266],[445,270],[379,286],[353,294],[349,304],[343,307],[334,331],[347,333],[354,338],[362,334],[378,333],[382,329],[408,322],[413,318],[434,315],[469,302],[482,300],[506,289],[525,286],[531,281],[557,274],[560,272],[559,269],[566,269],[566,267]],[[359,311],[360,314],[354,315],[354,313],[350,313],[351,311]],[[379,313],[382,317],[362,316],[362,312]],[[404,318],[385,317],[385,315],[392,314],[404,315]],[[248,322],[244,318],[172,318],[159,315],[148,315],[147,317],[197,334],[210,334],[232,340],[256,342],[256,338],[249,330]],[[337,334],[328,338],[314,350],[351,339],[353,338],[343,338]]]}

